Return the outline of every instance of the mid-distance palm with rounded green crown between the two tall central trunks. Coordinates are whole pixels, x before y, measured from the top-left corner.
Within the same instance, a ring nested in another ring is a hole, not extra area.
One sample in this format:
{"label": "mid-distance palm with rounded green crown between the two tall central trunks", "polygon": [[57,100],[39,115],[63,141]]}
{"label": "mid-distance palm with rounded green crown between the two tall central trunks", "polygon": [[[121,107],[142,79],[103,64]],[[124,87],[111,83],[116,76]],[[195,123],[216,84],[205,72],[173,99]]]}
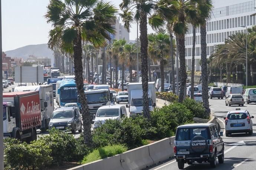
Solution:
{"label": "mid-distance palm with rounded green crown between the two tall central trunks", "polygon": [[170,52],[170,37],[165,33],[149,34],[149,50],[160,60],[161,91],[164,91],[164,63]]}

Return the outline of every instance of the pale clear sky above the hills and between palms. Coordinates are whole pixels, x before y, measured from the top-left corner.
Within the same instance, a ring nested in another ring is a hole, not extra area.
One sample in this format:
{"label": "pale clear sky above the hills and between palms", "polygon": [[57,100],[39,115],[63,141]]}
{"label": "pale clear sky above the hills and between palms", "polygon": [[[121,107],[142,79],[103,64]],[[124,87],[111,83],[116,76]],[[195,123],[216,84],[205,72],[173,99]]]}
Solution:
{"label": "pale clear sky above the hills and between palms", "polygon": [[[121,0],[111,2],[118,7]],[[2,0],[3,51],[48,42],[51,25],[47,24],[43,17],[48,3],[49,0]],[[152,32],[151,28],[148,30]],[[137,30],[134,24],[130,40],[135,40],[136,37]]]}

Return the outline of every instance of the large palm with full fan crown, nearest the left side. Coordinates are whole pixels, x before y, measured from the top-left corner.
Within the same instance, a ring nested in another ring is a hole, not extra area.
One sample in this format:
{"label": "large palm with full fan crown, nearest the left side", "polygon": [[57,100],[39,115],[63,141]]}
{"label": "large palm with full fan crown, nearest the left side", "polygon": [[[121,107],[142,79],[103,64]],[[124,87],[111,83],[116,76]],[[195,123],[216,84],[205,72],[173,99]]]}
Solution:
{"label": "large palm with full fan crown, nearest the left side", "polygon": [[104,45],[110,39],[108,32],[115,29],[109,20],[117,10],[103,1],[50,0],[45,18],[53,30],[49,32],[49,48],[59,44],[63,53],[72,55],[75,81],[82,107],[83,134],[85,143],[92,146],[91,119],[83,90],[82,40],[95,47]]}

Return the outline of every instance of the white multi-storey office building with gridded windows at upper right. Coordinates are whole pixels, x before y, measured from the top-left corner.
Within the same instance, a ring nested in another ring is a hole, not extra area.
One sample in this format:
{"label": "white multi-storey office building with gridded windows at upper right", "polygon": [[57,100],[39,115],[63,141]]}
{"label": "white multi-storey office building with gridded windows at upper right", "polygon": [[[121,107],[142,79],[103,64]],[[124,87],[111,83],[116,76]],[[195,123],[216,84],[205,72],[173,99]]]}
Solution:
{"label": "white multi-storey office building with gridded windows at upper right", "polygon": [[[211,19],[207,22],[207,58],[214,52],[214,45],[224,44],[229,35],[237,32],[246,33],[246,26],[250,28],[256,24],[255,0],[213,0],[214,9]],[[185,56],[187,71],[191,70],[193,44],[193,27],[188,26],[185,35]],[[201,71],[200,67],[201,45],[200,29],[196,29],[196,52],[195,52],[195,71]]]}

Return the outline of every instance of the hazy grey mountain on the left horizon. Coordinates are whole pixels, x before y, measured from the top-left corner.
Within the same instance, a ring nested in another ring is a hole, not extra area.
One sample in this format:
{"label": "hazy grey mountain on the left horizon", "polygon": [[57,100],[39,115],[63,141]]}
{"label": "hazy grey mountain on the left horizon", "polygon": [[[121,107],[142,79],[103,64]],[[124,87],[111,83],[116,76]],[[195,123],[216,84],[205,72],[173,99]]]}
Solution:
{"label": "hazy grey mountain on the left horizon", "polygon": [[47,44],[26,45],[15,50],[5,51],[5,53],[7,57],[21,57],[23,59],[29,58],[29,55],[38,58],[48,57],[52,59],[53,63],[53,51],[48,48]]}

